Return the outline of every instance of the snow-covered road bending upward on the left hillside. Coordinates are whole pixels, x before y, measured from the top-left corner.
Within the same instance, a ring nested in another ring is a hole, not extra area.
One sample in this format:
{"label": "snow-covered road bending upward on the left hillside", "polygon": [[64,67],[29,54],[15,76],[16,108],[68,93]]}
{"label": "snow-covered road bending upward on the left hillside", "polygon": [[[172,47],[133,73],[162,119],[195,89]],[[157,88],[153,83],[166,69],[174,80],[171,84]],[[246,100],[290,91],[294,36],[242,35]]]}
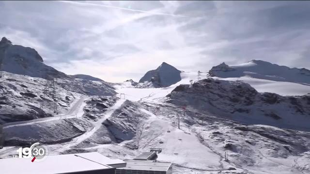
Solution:
{"label": "snow-covered road bending upward on the left hillside", "polygon": [[52,121],[52,120],[57,120],[57,119],[80,117],[83,115],[82,109],[85,106],[85,102],[84,102],[85,100],[87,100],[87,98],[82,97],[77,102],[73,103],[72,107],[68,110],[67,114],[60,115],[60,116],[38,118],[38,119],[29,120],[29,121],[18,121],[18,122],[13,122],[13,123],[7,123],[7,124],[4,124],[4,128],[32,124],[32,123],[39,123],[39,122],[47,122],[47,121]]}

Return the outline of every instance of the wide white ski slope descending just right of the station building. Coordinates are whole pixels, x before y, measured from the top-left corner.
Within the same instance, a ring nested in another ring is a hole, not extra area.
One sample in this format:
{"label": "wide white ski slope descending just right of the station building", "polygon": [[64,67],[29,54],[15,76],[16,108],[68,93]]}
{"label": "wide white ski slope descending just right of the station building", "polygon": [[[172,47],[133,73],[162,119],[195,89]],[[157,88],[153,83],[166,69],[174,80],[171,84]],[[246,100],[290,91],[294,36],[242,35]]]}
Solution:
{"label": "wide white ski slope descending just right of the station building", "polygon": [[[221,169],[220,157],[202,145],[184,123],[181,122],[178,129],[178,125],[165,116],[156,116],[145,109],[141,111],[150,115],[150,118],[144,123],[139,150],[162,148],[157,160],[172,162],[180,167],[212,171]],[[160,141],[163,143],[160,144]]]}

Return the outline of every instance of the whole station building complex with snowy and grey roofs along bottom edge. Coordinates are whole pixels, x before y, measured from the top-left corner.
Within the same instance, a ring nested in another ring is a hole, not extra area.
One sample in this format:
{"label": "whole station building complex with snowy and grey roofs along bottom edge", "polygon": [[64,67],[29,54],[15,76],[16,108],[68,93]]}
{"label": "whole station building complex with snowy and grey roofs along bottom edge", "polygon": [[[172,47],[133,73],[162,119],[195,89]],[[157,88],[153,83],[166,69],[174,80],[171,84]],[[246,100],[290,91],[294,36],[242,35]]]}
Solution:
{"label": "whole station building complex with snowy and grey roofs along bottom edge", "polygon": [[172,174],[170,162],[156,162],[156,152],[142,152],[131,160],[113,160],[98,152],[0,159],[1,174]]}

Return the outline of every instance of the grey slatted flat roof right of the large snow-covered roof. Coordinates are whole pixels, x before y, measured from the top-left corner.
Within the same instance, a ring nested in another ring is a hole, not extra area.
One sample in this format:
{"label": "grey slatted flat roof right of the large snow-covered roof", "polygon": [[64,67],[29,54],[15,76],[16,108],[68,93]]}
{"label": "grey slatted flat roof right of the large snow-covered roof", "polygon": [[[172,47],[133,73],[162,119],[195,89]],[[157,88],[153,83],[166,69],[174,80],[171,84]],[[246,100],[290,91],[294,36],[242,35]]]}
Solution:
{"label": "grey slatted flat roof right of the large snow-covered roof", "polygon": [[146,170],[146,171],[168,171],[171,162],[149,162],[144,160],[124,160],[126,167],[117,170]]}

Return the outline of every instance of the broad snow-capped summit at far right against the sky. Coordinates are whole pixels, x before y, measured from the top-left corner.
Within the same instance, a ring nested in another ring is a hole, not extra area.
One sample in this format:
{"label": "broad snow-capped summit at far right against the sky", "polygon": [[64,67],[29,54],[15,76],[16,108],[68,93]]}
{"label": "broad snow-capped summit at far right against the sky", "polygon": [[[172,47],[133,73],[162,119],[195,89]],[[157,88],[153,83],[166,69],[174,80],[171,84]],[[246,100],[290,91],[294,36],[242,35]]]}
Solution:
{"label": "broad snow-capped summit at far right against the sky", "polygon": [[227,65],[223,62],[212,67],[209,74],[222,78],[249,76],[272,81],[310,84],[309,70],[279,66],[263,60],[251,60],[239,65]]}

